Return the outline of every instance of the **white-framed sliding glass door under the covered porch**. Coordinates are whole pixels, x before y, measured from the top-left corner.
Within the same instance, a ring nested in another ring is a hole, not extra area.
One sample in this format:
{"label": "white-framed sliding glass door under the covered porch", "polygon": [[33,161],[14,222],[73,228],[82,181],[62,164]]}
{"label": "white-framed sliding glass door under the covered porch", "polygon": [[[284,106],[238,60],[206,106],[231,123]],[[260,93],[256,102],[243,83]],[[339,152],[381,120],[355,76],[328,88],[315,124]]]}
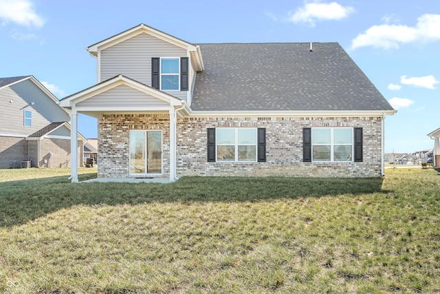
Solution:
{"label": "white-framed sliding glass door under the covered porch", "polygon": [[130,132],[130,174],[162,174],[162,131]]}

